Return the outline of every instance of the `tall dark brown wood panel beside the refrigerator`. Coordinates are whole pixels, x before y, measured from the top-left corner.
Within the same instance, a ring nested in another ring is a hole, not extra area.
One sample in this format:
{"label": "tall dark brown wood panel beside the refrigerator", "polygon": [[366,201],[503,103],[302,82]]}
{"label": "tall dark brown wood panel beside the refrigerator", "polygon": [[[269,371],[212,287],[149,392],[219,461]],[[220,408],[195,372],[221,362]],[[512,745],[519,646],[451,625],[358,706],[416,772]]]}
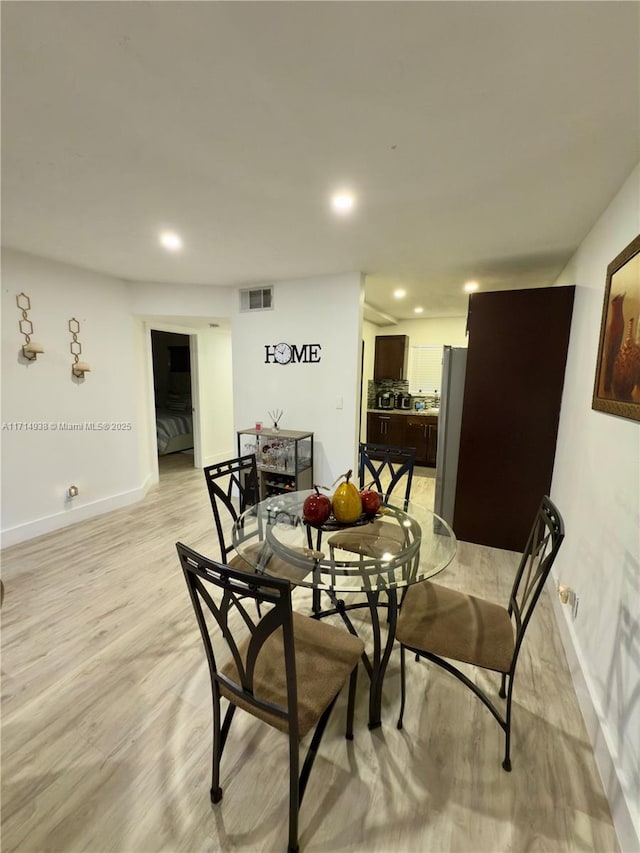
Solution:
{"label": "tall dark brown wood panel beside the refrigerator", "polygon": [[546,287],[469,299],[458,539],[524,549],[551,488],[573,296],[573,287]]}

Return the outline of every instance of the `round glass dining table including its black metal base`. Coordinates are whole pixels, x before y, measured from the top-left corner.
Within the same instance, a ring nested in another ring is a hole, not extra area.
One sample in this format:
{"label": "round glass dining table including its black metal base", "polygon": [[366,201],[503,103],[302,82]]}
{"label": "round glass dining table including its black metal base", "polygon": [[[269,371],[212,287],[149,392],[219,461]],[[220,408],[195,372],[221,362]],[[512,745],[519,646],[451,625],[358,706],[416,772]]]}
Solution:
{"label": "round glass dining table including its black metal base", "polygon": [[[387,504],[374,518],[363,516],[355,524],[339,524],[330,517],[324,524],[312,525],[303,516],[308,495],[308,491],[288,492],[247,507],[234,523],[233,543],[258,574],[286,576],[312,590],[311,615],[316,619],[338,616],[357,635],[350,614],[368,609],[372,647],[362,660],[370,679],[369,728],[373,729],[381,724],[382,686],[395,640],[398,591],[402,594],[411,584],[448,566],[456,539],[443,519],[416,503]],[[323,596],[328,602],[325,608]],[[386,610],[382,622],[380,610]]]}

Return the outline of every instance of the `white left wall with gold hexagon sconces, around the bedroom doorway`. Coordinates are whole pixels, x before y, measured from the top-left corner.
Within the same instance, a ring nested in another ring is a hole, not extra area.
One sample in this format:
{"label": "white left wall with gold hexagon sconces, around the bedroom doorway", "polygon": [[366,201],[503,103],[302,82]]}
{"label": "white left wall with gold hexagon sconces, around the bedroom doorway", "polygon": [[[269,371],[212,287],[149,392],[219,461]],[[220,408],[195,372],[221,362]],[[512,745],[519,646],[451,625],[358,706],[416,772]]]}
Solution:
{"label": "white left wall with gold hexagon sconces, around the bedroom doorway", "polygon": [[[231,332],[179,326],[181,318],[228,317],[237,304],[234,289],[124,282],[11,249],[2,251],[2,273],[3,423],[48,427],[2,431],[3,546],[139,500],[157,479],[144,315],[162,316],[166,328],[196,338],[201,463],[235,454]],[[45,348],[32,364],[19,356],[21,291],[31,299],[33,340]],[[71,317],[80,321],[82,359],[92,368],[80,382],[71,378]],[[131,429],[52,428],[59,422]],[[80,493],[68,500],[72,484]]]}

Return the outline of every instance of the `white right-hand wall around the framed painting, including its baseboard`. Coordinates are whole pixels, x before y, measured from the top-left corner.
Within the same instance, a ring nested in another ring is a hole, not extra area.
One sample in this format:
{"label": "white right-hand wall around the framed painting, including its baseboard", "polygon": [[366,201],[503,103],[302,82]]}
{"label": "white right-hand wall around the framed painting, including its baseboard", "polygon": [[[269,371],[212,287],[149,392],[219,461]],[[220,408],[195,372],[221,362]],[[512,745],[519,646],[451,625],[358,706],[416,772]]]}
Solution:
{"label": "white right-hand wall around the framed painting, including its baseboard", "polygon": [[[557,284],[575,284],[552,496],[566,523],[554,596],[622,849],[640,849],[640,423],[591,409],[607,265],[640,233],[640,166]],[[564,736],[558,732],[559,736]]]}

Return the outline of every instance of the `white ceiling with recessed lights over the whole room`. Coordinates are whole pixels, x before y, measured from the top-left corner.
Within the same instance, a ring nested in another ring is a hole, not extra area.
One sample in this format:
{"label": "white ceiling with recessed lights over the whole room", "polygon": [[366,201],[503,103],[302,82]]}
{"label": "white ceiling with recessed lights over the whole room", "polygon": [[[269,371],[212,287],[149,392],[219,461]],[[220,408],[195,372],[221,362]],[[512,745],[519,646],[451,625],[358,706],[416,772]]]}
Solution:
{"label": "white ceiling with recessed lights over the whole room", "polygon": [[1,6],[3,244],[125,279],[461,314],[550,284],[640,159],[635,2]]}

